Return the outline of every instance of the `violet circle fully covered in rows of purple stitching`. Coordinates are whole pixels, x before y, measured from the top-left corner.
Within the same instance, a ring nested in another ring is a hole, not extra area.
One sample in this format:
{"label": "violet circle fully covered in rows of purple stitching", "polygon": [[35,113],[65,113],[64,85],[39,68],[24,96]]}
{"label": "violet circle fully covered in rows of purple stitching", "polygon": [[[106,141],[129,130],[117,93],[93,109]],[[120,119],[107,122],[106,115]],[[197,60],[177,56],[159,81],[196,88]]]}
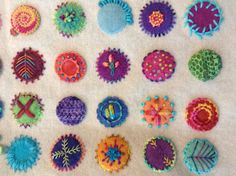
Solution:
{"label": "violet circle fully covered in rows of purple stitching", "polygon": [[65,125],[77,125],[86,115],[87,108],[83,101],[77,97],[66,97],[57,105],[57,116]]}

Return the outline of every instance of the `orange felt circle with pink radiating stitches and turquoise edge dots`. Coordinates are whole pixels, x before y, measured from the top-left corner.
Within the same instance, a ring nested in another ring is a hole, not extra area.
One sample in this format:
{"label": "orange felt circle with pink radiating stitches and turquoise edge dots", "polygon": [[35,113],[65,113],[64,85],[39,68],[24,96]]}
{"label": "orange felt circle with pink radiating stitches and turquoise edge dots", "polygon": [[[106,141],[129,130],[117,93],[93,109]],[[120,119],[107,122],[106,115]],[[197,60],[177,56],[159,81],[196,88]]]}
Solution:
{"label": "orange felt circle with pink radiating stitches and turquoise edge dots", "polygon": [[174,120],[176,112],[174,111],[174,103],[167,96],[154,98],[147,97],[147,101],[141,103],[143,109],[141,114],[142,120],[148,123],[148,127],[156,126],[160,128],[169,126],[169,122]]}

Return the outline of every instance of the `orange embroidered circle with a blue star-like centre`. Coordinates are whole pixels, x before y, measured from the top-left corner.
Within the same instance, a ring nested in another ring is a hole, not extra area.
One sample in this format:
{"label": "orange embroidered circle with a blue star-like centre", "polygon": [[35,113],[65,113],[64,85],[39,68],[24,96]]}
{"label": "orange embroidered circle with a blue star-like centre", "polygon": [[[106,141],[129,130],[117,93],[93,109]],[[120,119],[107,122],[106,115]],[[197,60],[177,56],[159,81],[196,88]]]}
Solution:
{"label": "orange embroidered circle with a blue star-like centre", "polygon": [[128,164],[130,159],[129,144],[119,135],[106,137],[98,144],[96,159],[105,171],[119,171]]}

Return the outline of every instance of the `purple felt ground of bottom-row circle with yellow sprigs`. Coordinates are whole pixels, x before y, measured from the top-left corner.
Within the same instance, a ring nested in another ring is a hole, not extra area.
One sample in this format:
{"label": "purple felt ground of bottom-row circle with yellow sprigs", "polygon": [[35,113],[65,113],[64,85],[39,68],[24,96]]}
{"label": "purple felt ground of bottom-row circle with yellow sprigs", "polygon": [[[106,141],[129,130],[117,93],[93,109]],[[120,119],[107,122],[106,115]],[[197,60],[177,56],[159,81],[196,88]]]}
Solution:
{"label": "purple felt ground of bottom-row circle with yellow sprigs", "polygon": [[[152,144],[153,140],[156,146]],[[171,161],[175,160],[175,151],[170,142],[164,138],[156,138],[149,141],[145,150],[145,160],[147,164],[156,170],[168,170],[171,166],[165,165],[165,157]]]}

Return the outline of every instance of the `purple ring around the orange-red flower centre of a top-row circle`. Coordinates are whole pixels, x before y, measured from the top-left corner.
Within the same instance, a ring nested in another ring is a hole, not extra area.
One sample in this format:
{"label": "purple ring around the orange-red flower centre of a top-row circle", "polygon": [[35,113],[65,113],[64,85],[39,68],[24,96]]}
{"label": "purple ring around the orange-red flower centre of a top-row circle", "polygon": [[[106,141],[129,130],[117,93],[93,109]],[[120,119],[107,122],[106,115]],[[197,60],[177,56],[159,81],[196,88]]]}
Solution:
{"label": "purple ring around the orange-red flower centre of a top-row circle", "polygon": [[[154,11],[160,11],[164,15],[164,21],[160,26],[153,27],[149,22],[149,16]],[[176,14],[168,2],[151,1],[141,10],[139,24],[142,30],[154,37],[166,35],[174,27]]]}

